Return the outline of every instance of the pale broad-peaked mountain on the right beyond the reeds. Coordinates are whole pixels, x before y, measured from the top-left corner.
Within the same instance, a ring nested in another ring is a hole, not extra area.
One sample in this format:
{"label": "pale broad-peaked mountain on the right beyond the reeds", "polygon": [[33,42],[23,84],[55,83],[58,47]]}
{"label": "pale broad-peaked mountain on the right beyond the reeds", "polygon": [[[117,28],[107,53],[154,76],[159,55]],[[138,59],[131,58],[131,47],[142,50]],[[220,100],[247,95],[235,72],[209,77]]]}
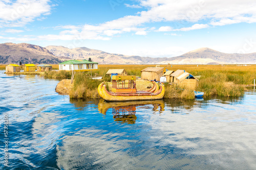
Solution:
{"label": "pale broad-peaked mountain on the right beyond the reeds", "polygon": [[256,53],[250,54],[227,54],[211,48],[198,48],[197,50],[185,53],[178,57],[168,58],[161,64],[238,64],[256,63]]}

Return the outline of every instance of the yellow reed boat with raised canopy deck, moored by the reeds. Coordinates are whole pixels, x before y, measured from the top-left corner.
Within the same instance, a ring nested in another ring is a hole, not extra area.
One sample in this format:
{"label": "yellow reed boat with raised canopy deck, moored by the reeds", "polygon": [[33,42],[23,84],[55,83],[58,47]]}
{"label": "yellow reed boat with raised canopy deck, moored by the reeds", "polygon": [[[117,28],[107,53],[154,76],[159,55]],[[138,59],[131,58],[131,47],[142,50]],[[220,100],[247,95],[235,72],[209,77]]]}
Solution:
{"label": "yellow reed boat with raised canopy deck, moored by the reeds", "polygon": [[[128,87],[125,87],[125,80],[128,80]],[[106,101],[142,101],[142,100],[158,100],[164,95],[164,85],[154,82],[153,87],[147,91],[137,91],[135,76],[113,76],[112,91],[106,89],[106,85],[101,83],[98,86],[98,93]],[[120,87],[121,86],[121,87]]]}

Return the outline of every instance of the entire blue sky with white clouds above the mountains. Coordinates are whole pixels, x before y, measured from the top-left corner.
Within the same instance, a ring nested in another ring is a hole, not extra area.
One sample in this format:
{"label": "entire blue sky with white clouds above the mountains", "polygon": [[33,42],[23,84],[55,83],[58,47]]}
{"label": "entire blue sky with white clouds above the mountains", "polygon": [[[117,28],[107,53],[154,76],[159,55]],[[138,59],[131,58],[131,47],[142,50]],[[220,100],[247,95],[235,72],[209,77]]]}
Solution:
{"label": "entire blue sky with white clouds above the mountains", "polygon": [[255,0],[0,0],[0,43],[175,57],[256,52]]}

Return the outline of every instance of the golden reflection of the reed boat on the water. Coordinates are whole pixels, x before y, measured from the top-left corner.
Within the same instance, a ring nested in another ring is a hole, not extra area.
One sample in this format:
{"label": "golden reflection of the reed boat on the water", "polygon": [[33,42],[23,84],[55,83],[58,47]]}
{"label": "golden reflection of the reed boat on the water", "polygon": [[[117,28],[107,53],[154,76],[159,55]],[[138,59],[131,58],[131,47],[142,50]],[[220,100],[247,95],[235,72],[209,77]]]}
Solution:
{"label": "golden reflection of the reed boat on the water", "polygon": [[162,113],[164,111],[164,102],[163,100],[106,102],[103,99],[99,101],[98,109],[100,113],[105,115],[110,108],[112,108],[114,121],[118,123],[135,124],[137,119],[137,116],[135,115],[136,109],[151,109],[153,113]]}

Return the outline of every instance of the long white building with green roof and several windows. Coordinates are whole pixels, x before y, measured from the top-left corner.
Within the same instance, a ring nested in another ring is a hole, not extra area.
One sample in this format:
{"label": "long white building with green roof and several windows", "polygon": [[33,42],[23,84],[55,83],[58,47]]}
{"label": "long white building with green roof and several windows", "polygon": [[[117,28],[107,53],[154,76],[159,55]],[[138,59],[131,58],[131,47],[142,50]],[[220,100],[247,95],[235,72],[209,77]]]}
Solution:
{"label": "long white building with green roof and several windows", "polygon": [[59,70],[90,71],[98,69],[98,63],[88,60],[69,60],[59,63]]}

